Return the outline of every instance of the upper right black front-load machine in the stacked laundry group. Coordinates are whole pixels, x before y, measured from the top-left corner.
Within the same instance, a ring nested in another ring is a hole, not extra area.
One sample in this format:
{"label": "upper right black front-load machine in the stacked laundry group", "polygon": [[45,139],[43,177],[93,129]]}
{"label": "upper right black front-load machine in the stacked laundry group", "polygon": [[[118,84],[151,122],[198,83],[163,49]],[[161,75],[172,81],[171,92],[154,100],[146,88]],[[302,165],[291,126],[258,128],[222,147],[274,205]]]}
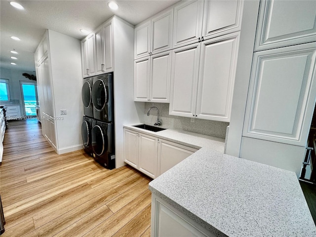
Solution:
{"label": "upper right black front-load machine in the stacked laundry group", "polygon": [[114,122],[113,74],[103,74],[93,78],[92,86],[93,118]]}

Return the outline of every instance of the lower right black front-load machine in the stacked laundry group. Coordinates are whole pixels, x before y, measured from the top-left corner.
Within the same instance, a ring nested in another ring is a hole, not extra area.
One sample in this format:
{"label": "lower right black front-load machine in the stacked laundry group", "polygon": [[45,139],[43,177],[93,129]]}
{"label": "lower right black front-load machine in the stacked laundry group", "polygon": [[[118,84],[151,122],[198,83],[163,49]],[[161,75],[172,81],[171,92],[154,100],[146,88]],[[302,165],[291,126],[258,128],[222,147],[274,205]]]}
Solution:
{"label": "lower right black front-load machine in the stacked laundry group", "polygon": [[96,120],[92,127],[94,159],[108,169],[115,168],[114,124]]}

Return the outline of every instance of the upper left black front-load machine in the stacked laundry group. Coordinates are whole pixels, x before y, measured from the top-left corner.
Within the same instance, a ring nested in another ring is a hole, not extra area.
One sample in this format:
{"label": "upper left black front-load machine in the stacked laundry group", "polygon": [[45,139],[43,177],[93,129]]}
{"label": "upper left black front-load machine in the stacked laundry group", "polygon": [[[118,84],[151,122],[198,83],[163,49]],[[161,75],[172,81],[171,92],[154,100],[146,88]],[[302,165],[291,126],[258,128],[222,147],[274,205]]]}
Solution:
{"label": "upper left black front-load machine in the stacked laundry group", "polygon": [[92,85],[93,77],[83,79],[81,89],[81,99],[83,102],[83,114],[87,117],[93,118],[93,102],[92,102]]}

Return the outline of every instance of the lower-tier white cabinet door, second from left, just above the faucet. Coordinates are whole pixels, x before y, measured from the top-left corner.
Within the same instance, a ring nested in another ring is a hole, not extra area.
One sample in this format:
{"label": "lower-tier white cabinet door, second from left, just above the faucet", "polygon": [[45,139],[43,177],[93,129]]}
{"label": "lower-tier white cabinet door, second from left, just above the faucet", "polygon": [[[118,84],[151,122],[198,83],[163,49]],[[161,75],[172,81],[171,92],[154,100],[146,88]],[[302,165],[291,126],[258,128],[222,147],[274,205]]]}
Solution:
{"label": "lower-tier white cabinet door, second from left, just above the faucet", "polygon": [[150,101],[168,103],[170,97],[171,50],[151,56]]}

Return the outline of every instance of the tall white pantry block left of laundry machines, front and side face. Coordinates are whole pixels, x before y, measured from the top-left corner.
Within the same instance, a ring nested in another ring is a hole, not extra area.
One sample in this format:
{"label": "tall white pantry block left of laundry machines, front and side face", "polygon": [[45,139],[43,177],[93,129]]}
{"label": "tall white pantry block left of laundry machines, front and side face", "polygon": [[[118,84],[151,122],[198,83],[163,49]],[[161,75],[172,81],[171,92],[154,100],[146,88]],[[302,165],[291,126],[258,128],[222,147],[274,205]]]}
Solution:
{"label": "tall white pantry block left of laundry machines, front and side face", "polygon": [[[46,30],[35,51],[42,134],[57,154],[82,147],[80,41]],[[67,115],[60,115],[67,110]]]}

